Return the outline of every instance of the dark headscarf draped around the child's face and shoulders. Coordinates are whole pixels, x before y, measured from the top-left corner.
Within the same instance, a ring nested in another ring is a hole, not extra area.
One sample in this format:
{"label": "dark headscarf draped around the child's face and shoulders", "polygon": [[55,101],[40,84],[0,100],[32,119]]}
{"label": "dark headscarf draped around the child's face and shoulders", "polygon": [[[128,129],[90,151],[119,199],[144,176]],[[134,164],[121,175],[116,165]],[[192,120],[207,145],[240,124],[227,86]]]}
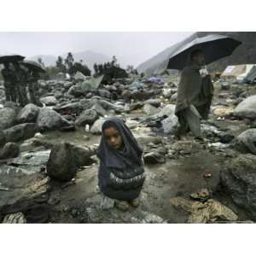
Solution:
{"label": "dark headscarf draped around the child's face and shoulders", "polygon": [[[113,126],[118,129],[123,139],[124,148],[122,151],[108,146],[103,131]],[[142,164],[143,149],[139,147],[137,140],[132,135],[130,129],[121,119],[108,119],[102,125],[102,141],[97,151],[97,156],[106,167],[125,168]]]}

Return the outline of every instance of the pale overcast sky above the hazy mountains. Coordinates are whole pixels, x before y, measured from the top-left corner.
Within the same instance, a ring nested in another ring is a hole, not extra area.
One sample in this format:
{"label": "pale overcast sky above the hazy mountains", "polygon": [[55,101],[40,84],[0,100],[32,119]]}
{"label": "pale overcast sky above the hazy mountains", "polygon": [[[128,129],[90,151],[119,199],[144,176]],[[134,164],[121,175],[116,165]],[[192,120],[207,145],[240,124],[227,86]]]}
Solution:
{"label": "pale overcast sky above the hazy mountains", "polygon": [[191,32],[0,32],[0,54],[62,55],[92,50],[135,67]]}

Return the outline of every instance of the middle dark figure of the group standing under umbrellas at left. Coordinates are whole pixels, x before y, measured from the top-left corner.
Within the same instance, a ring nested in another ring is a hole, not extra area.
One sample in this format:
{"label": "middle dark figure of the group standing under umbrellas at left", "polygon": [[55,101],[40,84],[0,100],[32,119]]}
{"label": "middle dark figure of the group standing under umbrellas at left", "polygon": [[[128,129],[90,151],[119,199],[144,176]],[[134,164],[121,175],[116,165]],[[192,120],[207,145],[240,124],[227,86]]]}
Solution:
{"label": "middle dark figure of the group standing under umbrellas at left", "polygon": [[18,62],[14,62],[14,67],[15,67],[15,72],[17,74],[17,78],[18,78],[17,90],[18,90],[19,102],[20,102],[20,106],[24,107],[26,106],[26,104],[28,104],[28,99],[26,96],[28,74],[22,67],[20,67],[20,64]]}

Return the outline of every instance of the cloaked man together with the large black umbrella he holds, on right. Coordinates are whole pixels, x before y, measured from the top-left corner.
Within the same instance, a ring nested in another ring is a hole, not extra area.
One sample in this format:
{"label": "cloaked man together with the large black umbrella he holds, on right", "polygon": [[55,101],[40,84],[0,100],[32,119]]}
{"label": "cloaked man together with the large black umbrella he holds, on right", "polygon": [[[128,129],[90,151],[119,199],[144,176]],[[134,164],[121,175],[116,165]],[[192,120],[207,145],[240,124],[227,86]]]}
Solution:
{"label": "cloaked man together with the large black umbrella he holds, on right", "polygon": [[224,35],[209,34],[198,38],[195,33],[173,47],[167,69],[182,70],[175,109],[180,139],[185,138],[188,131],[202,139],[201,119],[207,119],[213,95],[212,80],[205,65],[231,55],[240,44]]}

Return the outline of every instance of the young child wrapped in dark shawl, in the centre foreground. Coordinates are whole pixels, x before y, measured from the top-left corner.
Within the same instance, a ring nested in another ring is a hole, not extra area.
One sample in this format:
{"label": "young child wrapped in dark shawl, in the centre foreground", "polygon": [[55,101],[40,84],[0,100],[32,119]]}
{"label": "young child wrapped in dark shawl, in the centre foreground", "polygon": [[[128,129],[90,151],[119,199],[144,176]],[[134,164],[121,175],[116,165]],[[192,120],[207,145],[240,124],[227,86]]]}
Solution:
{"label": "young child wrapped in dark shawl, in the centre foreground", "polygon": [[114,199],[119,209],[137,207],[145,180],[143,150],[122,120],[108,119],[102,125],[97,157],[101,160],[98,178],[102,193]]}

